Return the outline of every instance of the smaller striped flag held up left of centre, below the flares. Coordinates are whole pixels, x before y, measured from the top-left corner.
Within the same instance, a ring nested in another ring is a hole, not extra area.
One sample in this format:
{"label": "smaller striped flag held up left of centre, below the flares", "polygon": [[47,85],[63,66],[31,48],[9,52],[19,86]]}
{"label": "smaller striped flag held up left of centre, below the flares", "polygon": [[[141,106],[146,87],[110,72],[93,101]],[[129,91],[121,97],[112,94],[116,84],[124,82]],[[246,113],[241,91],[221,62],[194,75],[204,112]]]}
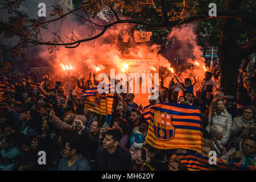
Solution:
{"label": "smaller striped flag held up left of centre, below the flares", "polygon": [[[102,86],[102,89],[104,89],[104,86]],[[105,91],[108,90],[109,93],[99,93],[97,87],[86,90],[81,96],[86,98],[84,109],[102,115],[112,114],[114,93],[111,92],[114,89],[114,85],[108,85]]]}

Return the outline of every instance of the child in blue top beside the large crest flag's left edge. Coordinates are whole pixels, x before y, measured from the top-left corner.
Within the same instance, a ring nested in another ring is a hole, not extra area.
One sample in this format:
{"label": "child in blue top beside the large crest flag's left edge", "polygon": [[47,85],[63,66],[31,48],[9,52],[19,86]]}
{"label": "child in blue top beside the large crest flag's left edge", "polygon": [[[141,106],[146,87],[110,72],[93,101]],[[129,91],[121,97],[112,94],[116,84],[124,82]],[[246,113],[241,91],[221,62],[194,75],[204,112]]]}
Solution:
{"label": "child in blue top beside the large crest flag's left edge", "polygon": [[148,126],[144,123],[137,126],[133,130],[133,134],[130,137],[130,146],[133,144],[134,148],[141,148],[146,144],[146,136],[147,136]]}

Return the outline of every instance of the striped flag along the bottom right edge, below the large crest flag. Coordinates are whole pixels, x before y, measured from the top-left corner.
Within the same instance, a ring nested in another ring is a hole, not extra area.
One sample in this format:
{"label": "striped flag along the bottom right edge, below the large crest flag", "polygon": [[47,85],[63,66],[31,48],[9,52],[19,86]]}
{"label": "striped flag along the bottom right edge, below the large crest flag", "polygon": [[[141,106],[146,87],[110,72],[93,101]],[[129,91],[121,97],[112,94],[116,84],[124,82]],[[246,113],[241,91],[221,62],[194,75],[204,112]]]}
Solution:
{"label": "striped flag along the bottom right edge, below the large crest flag", "polygon": [[176,154],[176,156],[180,159],[180,162],[191,171],[256,171],[256,167],[218,158],[216,158],[216,164],[211,165],[209,164],[209,156],[196,154]]}

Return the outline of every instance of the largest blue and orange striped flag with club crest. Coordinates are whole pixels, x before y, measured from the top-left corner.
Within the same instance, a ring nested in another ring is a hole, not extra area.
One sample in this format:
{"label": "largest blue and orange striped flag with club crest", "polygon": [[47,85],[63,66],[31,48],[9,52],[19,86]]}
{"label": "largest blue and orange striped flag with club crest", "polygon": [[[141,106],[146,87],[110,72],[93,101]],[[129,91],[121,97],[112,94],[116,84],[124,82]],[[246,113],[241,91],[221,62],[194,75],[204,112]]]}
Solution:
{"label": "largest blue and orange striped flag with club crest", "polygon": [[146,142],[151,146],[202,153],[203,124],[199,107],[163,103],[141,110],[141,113],[149,123]]}

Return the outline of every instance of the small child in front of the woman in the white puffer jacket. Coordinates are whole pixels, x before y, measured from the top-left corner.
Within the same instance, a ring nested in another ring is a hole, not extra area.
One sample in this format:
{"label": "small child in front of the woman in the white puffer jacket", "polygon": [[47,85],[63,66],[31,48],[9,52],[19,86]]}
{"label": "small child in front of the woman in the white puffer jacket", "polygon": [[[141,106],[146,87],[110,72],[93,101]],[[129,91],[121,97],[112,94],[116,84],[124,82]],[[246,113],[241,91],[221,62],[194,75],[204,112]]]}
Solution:
{"label": "small child in front of the woman in the white puffer jacket", "polygon": [[213,146],[217,152],[217,157],[221,157],[222,155],[226,154],[226,148],[220,141],[223,137],[223,128],[218,125],[212,125],[210,127],[210,135],[212,135],[213,138]]}

